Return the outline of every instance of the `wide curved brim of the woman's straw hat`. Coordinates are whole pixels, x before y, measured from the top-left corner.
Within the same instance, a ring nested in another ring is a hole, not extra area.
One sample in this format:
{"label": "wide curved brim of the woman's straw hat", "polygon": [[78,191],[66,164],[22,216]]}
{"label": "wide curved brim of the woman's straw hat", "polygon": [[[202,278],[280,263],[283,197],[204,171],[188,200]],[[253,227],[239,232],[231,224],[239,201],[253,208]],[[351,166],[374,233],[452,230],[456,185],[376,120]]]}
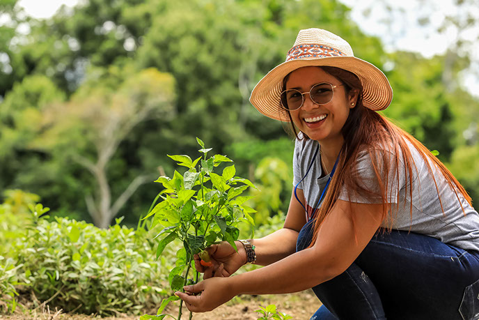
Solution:
{"label": "wide curved brim of the woman's straw hat", "polygon": [[368,61],[355,56],[333,56],[320,59],[297,59],[281,63],[263,77],[251,92],[249,101],[259,112],[269,118],[289,122],[290,117],[280,107],[283,79],[292,71],[307,66],[331,66],[354,73],[363,86],[363,105],[369,109],[384,110],[393,100],[393,89],[381,70]]}

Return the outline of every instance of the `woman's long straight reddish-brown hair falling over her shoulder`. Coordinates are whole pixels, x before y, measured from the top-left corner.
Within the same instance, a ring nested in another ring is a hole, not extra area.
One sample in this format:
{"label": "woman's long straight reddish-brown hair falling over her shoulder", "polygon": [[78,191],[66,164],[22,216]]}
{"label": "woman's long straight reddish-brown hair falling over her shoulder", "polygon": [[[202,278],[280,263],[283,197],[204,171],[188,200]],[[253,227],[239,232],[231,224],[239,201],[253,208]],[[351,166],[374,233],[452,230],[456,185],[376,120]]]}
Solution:
{"label": "woman's long straight reddish-brown hair falling over her shoulder", "polygon": [[[345,84],[346,95],[351,89],[358,89],[359,92],[361,92],[361,82],[353,73],[335,67],[320,68]],[[288,81],[288,77],[285,77],[283,84],[285,84],[286,81]],[[292,123],[292,119],[290,119],[290,121],[292,124],[292,130],[296,135],[297,131]],[[427,169],[432,175],[442,209],[443,205],[439,195],[436,178],[434,178],[432,171],[432,165],[437,167],[439,172],[446,178],[450,188],[454,190],[460,206],[462,207],[459,193],[469,204],[471,204],[471,197],[469,197],[466,190],[464,190],[459,181],[457,181],[457,179],[453,176],[453,174],[450,173],[443,163],[434,155],[432,155],[430,150],[421,144],[421,142],[409,135],[409,133],[405,132],[405,130],[399,128],[398,125],[395,125],[385,116],[382,116],[382,114],[364,107],[361,101],[361,94],[359,94],[356,107],[350,110],[350,114],[341,132],[343,133],[345,142],[340,152],[338,169],[336,169],[336,172],[331,179],[331,183],[324,197],[324,201],[316,213],[313,239],[310,246],[315,243],[324,218],[326,218],[330,213],[331,208],[333,208],[334,204],[336,204],[336,200],[344,189],[348,190],[350,199],[354,195],[360,195],[361,197],[366,198],[379,197],[382,200],[383,220],[387,217],[388,211],[390,211],[390,209],[391,213],[393,212],[392,207],[388,206],[388,202],[391,201],[388,201],[387,195],[388,191],[391,191],[391,188],[393,188],[394,185],[398,188],[398,190],[396,190],[398,199],[395,206],[397,208],[400,205],[399,188],[402,178],[405,178],[407,186],[406,193],[409,192],[409,196],[412,196],[414,172],[417,174],[417,168],[411,155],[411,150],[407,144],[408,142],[417,149],[418,153],[421,155],[421,158],[423,158]],[[304,139],[308,139],[308,137],[304,135]],[[375,176],[371,178],[375,180],[379,190],[368,190],[363,181],[361,181],[359,178],[359,174],[356,171],[356,162],[358,161],[360,153],[363,152],[368,153],[370,156],[372,169],[375,172]],[[395,155],[392,160],[391,157],[388,156],[391,154]],[[405,176],[400,176],[400,158],[402,158],[402,163],[405,166]],[[391,172],[393,172],[392,176],[390,175]],[[406,204],[406,199],[407,197],[405,197],[404,204]],[[411,216],[412,209],[411,203],[409,208]],[[387,228],[389,230],[391,230],[393,218],[394,217],[391,217],[390,225]],[[352,222],[354,225],[354,217],[352,217]]]}

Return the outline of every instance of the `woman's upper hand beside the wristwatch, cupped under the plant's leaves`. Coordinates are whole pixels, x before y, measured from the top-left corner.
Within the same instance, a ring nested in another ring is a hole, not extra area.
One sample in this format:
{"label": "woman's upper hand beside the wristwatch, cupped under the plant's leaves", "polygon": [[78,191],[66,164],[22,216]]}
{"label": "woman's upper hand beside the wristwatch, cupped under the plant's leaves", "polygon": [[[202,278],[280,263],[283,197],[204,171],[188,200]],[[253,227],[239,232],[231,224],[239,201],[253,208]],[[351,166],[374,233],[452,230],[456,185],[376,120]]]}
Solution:
{"label": "woman's upper hand beside the wristwatch, cupped under the plant's leaves", "polygon": [[229,277],[246,263],[246,251],[243,245],[239,241],[236,245],[238,252],[226,241],[207,247],[205,250],[210,254],[212,266],[203,266],[198,254],[194,255],[196,270],[204,273],[203,279]]}

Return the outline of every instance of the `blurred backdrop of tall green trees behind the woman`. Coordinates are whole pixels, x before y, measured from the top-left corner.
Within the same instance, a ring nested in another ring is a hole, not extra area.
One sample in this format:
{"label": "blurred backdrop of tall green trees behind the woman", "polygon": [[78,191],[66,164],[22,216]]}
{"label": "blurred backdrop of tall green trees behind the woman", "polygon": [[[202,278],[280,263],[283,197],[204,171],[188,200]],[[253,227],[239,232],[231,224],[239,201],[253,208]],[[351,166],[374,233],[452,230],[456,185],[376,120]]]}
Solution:
{"label": "blurred backdrop of tall green trees behind the woman", "polygon": [[[150,176],[171,174],[166,154],[194,153],[195,137],[262,185],[254,205],[265,217],[287,211],[292,139],[249,95],[312,26],[386,73],[394,98],[384,114],[437,149],[478,199],[469,164],[479,152],[479,102],[459,80],[467,57],[451,64],[385,52],[338,0],[89,0],[40,21],[15,2],[1,3],[11,21],[0,26],[0,189],[34,192],[56,215],[136,224],[160,191]],[[24,23],[31,32],[18,34]],[[148,104],[141,121],[118,125]],[[260,169],[265,157],[284,163]]]}

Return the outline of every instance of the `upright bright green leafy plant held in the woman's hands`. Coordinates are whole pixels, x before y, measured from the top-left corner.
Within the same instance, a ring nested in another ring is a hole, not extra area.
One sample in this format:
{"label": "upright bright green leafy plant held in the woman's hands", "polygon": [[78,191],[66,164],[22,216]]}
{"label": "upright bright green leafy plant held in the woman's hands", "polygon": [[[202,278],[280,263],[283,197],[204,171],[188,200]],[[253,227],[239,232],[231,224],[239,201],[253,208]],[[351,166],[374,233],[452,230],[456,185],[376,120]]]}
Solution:
{"label": "upright bright green leafy plant held in the woman's hands", "polygon": [[[187,167],[187,171],[184,174],[175,171],[173,178],[160,176],[157,179],[156,182],[162,183],[164,190],[159,192],[152,207],[157,199],[161,198],[162,201],[154,208],[150,207],[150,212],[144,218],[154,216],[152,227],[157,224],[164,227],[155,236],[159,239],[157,257],[168,243],[175,239],[182,242],[182,247],[176,253],[175,268],[168,275],[172,291],[183,291],[184,285],[198,282],[198,271],[194,280],[189,278],[191,269],[194,269],[194,254],[199,254],[217,241],[228,241],[236,249],[239,222],[250,224],[251,231],[254,227],[253,218],[249,215],[254,210],[243,205],[250,197],[242,196],[244,190],[254,188],[253,183],[235,176],[235,165],[224,167],[221,175],[214,173],[214,169],[223,162],[232,160],[224,155],[207,158],[207,153],[212,149],[205,148],[201,139],[196,140],[201,146],[200,153],[203,153],[196,160],[191,160],[188,155],[168,155],[178,165]],[[145,315],[142,319],[164,319],[166,316],[181,319],[182,301],[178,317],[162,313],[166,305],[174,300],[179,298],[171,296],[164,299],[156,316]],[[190,312],[189,318],[191,317]]]}

